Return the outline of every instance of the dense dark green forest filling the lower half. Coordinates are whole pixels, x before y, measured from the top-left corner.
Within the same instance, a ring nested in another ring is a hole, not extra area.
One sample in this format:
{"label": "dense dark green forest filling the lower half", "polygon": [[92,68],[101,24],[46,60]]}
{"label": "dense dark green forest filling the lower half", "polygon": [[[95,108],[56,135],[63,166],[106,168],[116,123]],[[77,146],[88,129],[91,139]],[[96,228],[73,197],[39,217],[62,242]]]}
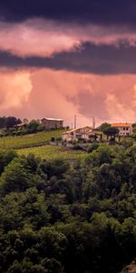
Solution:
{"label": "dense dark green forest filling the lower half", "polygon": [[0,153],[0,272],[117,273],[136,253],[136,146],[82,161]]}

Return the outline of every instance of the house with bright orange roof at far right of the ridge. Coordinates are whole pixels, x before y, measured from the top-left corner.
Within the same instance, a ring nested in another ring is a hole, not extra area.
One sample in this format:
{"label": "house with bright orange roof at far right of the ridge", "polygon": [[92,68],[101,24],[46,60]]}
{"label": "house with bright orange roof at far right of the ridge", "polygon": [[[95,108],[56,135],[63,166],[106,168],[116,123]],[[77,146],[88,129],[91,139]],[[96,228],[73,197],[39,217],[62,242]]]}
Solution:
{"label": "house with bright orange roof at far right of the ridge", "polygon": [[112,127],[119,129],[119,136],[131,136],[132,134],[131,123],[113,123]]}

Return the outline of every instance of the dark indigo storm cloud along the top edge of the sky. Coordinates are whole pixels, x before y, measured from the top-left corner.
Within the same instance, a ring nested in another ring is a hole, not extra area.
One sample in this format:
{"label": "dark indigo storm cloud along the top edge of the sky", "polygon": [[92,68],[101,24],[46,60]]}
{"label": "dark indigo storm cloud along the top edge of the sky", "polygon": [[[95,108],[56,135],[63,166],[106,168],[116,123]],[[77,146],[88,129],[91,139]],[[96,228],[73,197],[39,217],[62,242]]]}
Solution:
{"label": "dark indigo storm cloud along the top edge of the sky", "polygon": [[135,0],[1,0],[0,17],[21,21],[33,17],[95,24],[136,24]]}

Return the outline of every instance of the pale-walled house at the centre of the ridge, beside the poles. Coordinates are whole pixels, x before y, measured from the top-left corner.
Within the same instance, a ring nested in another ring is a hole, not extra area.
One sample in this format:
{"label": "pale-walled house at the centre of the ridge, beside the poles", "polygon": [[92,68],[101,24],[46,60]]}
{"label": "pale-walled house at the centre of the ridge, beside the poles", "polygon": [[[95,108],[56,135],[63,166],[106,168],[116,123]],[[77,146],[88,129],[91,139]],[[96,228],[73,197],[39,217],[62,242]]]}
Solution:
{"label": "pale-walled house at the centre of the ridge, beside the poles", "polygon": [[89,134],[92,132],[92,127],[84,126],[76,129],[68,130],[63,132],[63,140],[71,141],[71,140],[79,140],[83,138],[84,140],[89,140]]}

